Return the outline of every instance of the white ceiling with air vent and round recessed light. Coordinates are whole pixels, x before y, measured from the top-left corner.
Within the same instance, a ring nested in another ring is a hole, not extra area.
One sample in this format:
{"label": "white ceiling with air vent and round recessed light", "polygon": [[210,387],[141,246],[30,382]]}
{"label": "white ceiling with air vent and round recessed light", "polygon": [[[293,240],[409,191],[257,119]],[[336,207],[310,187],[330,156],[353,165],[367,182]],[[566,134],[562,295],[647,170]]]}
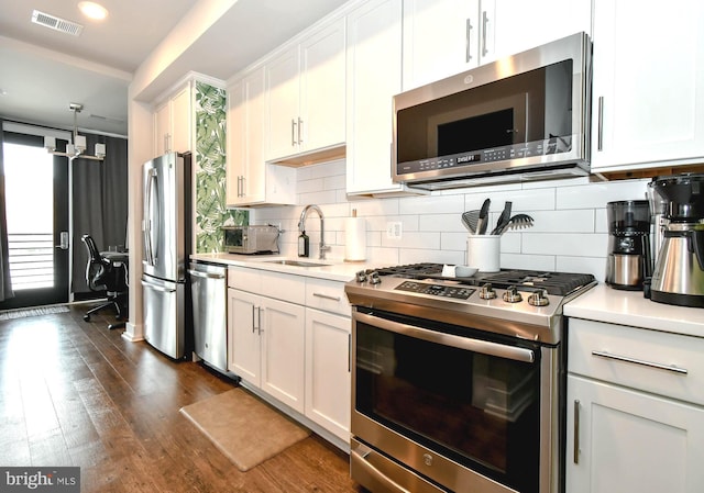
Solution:
{"label": "white ceiling with air vent and round recessed light", "polygon": [[[101,0],[110,13],[99,23],[82,18],[78,1],[0,0],[0,116],[70,128],[76,102],[85,107],[79,128],[127,135],[134,71],[194,5],[226,0]],[[345,1],[229,0],[151,90],[190,70],[226,80]],[[82,33],[33,24],[33,10],[82,24]]]}

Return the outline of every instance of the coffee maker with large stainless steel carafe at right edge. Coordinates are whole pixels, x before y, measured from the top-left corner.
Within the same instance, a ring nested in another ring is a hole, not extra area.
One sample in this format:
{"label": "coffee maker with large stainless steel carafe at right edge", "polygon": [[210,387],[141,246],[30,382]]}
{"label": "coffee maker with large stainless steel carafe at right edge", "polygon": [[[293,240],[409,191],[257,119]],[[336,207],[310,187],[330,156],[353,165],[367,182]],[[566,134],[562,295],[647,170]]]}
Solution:
{"label": "coffee maker with large stainless steel carafe at right edge", "polygon": [[667,201],[667,224],[650,298],[704,307],[704,173],[654,178],[652,189]]}

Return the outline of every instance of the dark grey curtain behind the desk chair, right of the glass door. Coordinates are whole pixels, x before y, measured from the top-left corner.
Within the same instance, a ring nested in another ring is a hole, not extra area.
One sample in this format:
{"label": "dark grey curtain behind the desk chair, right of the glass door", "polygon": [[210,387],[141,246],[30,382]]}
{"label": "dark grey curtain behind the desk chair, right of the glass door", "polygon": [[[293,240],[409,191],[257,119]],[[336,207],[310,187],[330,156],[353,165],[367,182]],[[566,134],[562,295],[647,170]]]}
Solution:
{"label": "dark grey curtain behind the desk chair, right of the glass door", "polygon": [[92,236],[98,248],[105,251],[127,247],[128,228],[128,141],[81,135],[86,135],[88,154],[94,153],[96,143],[106,144],[107,149],[102,161],[78,157],[72,164],[72,292],[75,294],[90,292],[85,274],[88,253],[81,236]]}

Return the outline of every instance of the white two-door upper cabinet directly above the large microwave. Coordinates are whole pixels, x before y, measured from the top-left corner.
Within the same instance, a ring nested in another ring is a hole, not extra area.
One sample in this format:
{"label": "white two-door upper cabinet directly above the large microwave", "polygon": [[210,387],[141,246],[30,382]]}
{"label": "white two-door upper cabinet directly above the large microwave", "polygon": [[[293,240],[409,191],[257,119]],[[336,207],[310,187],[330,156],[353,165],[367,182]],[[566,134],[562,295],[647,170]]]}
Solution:
{"label": "white two-door upper cabinet directly above the large microwave", "polygon": [[404,0],[404,90],[581,31],[591,0]]}

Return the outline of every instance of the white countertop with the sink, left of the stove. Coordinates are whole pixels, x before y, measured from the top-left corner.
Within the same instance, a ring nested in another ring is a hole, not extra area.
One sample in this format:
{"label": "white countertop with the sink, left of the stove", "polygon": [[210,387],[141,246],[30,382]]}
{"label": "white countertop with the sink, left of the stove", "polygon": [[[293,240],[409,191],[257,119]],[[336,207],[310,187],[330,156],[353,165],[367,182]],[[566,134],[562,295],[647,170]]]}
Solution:
{"label": "white countertop with the sink, left of the stove", "polygon": [[[341,259],[319,260],[317,258],[285,257],[277,255],[235,255],[235,254],[194,254],[191,260],[199,260],[227,266],[249,267],[273,272],[285,272],[308,278],[329,279],[331,281],[351,281],[354,274],[364,269],[378,267],[367,262],[345,262]],[[271,264],[271,260],[302,260],[316,264],[326,264],[321,267],[298,267]]]}

